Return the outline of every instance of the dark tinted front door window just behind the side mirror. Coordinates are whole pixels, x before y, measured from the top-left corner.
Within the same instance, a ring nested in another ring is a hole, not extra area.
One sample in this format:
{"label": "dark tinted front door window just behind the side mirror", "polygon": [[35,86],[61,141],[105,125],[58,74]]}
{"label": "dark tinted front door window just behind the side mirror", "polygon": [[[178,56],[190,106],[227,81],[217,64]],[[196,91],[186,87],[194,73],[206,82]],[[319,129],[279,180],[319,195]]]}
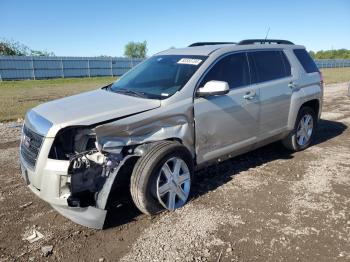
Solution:
{"label": "dark tinted front door window just behind the side mirror", "polygon": [[217,62],[202,80],[200,86],[211,80],[225,81],[230,88],[250,83],[246,53],[228,55]]}

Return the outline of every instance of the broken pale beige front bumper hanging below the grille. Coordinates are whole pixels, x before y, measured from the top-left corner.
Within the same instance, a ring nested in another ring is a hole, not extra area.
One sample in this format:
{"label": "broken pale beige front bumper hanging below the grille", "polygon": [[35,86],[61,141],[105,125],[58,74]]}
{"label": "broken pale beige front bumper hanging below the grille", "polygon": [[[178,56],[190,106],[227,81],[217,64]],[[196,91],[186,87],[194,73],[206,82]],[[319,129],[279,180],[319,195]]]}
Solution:
{"label": "broken pale beige front bumper hanging below the grille", "polygon": [[[48,202],[58,213],[73,222],[95,229],[102,229],[107,211],[92,206],[69,207],[67,198],[70,195],[62,184],[67,181],[68,161],[47,159],[40,174],[28,169],[25,162],[20,159],[22,177],[28,188],[39,198]],[[31,183],[33,176],[42,175],[40,189]]]}

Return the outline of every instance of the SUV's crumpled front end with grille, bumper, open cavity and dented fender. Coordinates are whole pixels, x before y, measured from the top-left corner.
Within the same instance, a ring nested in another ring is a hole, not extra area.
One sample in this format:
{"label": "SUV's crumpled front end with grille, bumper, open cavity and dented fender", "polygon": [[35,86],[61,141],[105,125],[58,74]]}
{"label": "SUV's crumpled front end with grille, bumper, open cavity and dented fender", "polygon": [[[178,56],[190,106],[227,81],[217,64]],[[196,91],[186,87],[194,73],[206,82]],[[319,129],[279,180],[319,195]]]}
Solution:
{"label": "SUV's crumpled front end with grille, bumper, open cavity and dented fender", "polygon": [[[156,108],[161,112],[151,113]],[[74,122],[67,116],[71,125],[47,120],[50,117],[42,115],[48,108],[31,110],[20,146],[23,178],[63,216],[87,227],[103,228],[108,199],[124,166],[153,141],[175,138],[193,144],[192,111],[189,108],[186,115],[183,105],[178,108],[178,112],[163,111],[153,103],[97,123]]]}

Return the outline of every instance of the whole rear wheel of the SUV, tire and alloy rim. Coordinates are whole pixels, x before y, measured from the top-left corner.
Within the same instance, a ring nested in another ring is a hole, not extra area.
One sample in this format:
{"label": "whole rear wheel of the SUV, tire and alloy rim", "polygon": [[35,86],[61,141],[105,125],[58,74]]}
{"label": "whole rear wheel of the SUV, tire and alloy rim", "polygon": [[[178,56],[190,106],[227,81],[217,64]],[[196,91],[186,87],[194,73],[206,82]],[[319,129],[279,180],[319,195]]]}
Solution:
{"label": "whole rear wheel of the SUV, tire and alloy rim", "polygon": [[315,111],[310,107],[302,107],[299,110],[294,129],[282,141],[283,145],[292,151],[304,150],[311,144],[315,128]]}

